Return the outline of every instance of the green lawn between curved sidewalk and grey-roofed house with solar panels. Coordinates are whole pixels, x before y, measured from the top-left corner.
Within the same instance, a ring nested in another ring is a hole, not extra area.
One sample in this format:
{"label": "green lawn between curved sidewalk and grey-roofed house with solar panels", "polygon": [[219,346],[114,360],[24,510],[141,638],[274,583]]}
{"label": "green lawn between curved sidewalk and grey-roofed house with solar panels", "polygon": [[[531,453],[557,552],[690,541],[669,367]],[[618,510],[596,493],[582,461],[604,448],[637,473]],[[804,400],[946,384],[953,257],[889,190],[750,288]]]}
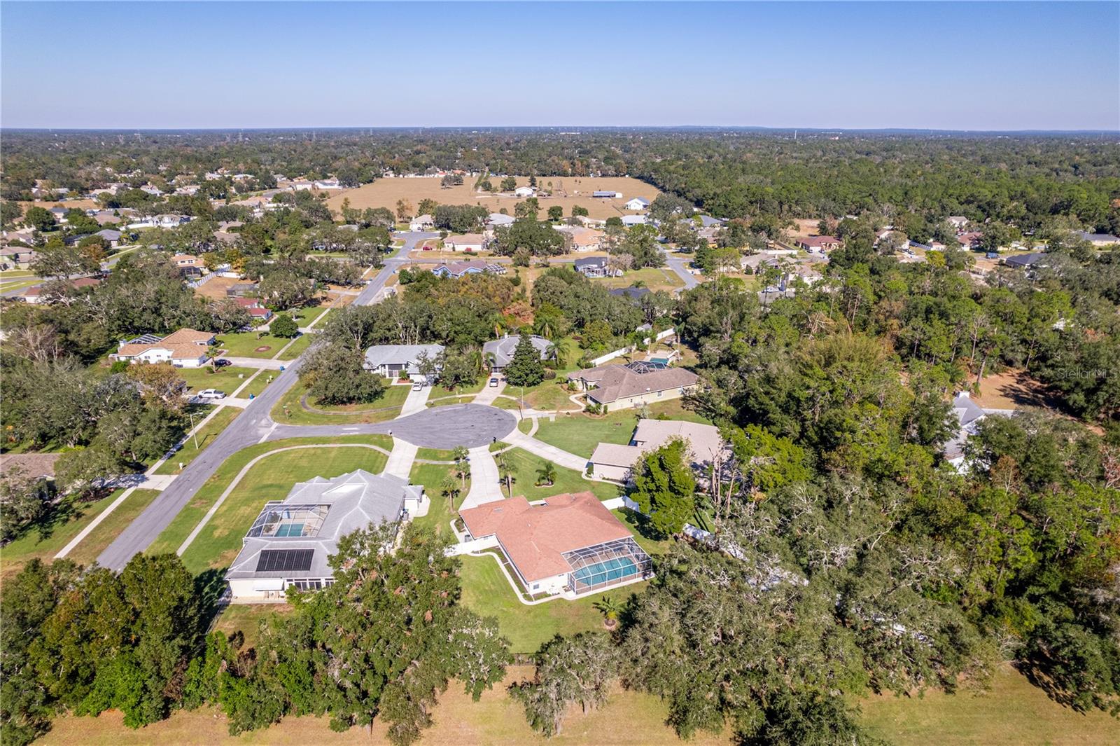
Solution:
{"label": "green lawn between curved sidewalk and grey-roofed house with solar panels", "polygon": [[379,474],[386,460],[384,454],[370,448],[306,448],[264,457],[245,474],[183,553],[184,563],[192,572],[228,567],[265,502],[283,500],[293,484],[316,476],[330,478],[358,468]]}

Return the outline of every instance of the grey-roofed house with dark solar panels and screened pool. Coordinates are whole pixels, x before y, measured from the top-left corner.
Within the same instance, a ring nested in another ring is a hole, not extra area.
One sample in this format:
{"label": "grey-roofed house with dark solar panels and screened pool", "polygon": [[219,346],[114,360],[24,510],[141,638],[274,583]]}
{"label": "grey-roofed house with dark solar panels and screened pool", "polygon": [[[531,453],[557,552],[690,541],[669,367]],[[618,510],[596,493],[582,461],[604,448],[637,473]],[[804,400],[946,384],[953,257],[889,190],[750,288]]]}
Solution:
{"label": "grey-roofed house with dark solar panels and screened pool", "polygon": [[225,574],[231,600],[280,603],[288,588],[332,585],[328,559],[340,538],[371,524],[400,524],[424,500],[423,487],[364,469],[296,484],[283,500],[264,504],[242,540]]}

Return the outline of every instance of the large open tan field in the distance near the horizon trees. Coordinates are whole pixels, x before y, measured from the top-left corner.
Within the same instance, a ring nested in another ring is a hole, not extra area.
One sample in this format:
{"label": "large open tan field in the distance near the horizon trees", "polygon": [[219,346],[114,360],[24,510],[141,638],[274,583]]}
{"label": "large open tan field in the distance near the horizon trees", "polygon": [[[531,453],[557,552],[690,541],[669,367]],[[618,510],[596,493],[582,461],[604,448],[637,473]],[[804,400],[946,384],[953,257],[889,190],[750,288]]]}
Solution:
{"label": "large open tan field in the distance near the horizon trees", "polygon": [[[529,177],[519,176],[517,186],[528,186]],[[491,177],[491,181],[497,186],[501,179]],[[571,215],[573,205],[587,207],[590,217],[606,220],[613,216],[633,214],[623,208],[623,203],[632,197],[645,197],[653,202],[654,197],[661,194],[656,187],[631,178],[628,176],[614,177],[567,177],[567,176],[542,176],[538,178],[541,187],[547,187],[552,183],[552,197],[540,197],[541,214],[543,218],[549,207],[560,205],[563,207],[564,217]],[[598,199],[591,196],[594,192],[622,192],[622,197],[614,199]],[[438,178],[391,178],[377,179],[373,184],[363,185],[356,189],[344,189],[327,199],[327,206],[335,212],[342,211],[343,201],[349,199],[351,207],[364,209],[366,207],[388,207],[396,211],[396,201],[404,199],[412,204],[413,208],[419,207],[421,199],[435,199],[441,205],[482,205],[492,213],[501,212],[504,207],[511,215],[513,206],[523,202],[523,197],[497,196],[488,193],[476,193],[475,180],[465,178],[464,183],[445,189],[439,186]]]}

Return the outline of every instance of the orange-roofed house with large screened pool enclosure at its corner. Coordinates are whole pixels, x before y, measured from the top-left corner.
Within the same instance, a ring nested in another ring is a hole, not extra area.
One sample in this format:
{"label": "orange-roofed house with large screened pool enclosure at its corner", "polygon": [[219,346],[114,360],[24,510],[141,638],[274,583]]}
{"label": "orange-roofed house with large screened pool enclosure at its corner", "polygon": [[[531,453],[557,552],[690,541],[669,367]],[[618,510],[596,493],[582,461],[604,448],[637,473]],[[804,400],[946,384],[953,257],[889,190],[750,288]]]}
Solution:
{"label": "orange-roofed house with large screened pool enclosure at its corner", "polygon": [[493,537],[530,595],[575,598],[653,575],[650,556],[590,492],[459,511],[467,540]]}

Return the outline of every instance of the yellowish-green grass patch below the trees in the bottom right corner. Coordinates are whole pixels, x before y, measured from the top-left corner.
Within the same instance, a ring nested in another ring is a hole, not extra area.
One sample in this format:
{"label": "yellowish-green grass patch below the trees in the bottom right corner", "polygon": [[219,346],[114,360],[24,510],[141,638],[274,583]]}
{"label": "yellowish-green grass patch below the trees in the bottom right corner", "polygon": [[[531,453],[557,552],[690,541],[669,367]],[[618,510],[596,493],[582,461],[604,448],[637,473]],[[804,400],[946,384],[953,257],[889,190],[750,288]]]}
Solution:
{"label": "yellowish-green grass patch below the trees in the bottom right corner", "polygon": [[1062,707],[1010,665],[996,670],[987,693],[926,692],[921,699],[887,694],[860,700],[860,706],[871,733],[898,746],[933,740],[940,746],[1120,743],[1120,720]]}

